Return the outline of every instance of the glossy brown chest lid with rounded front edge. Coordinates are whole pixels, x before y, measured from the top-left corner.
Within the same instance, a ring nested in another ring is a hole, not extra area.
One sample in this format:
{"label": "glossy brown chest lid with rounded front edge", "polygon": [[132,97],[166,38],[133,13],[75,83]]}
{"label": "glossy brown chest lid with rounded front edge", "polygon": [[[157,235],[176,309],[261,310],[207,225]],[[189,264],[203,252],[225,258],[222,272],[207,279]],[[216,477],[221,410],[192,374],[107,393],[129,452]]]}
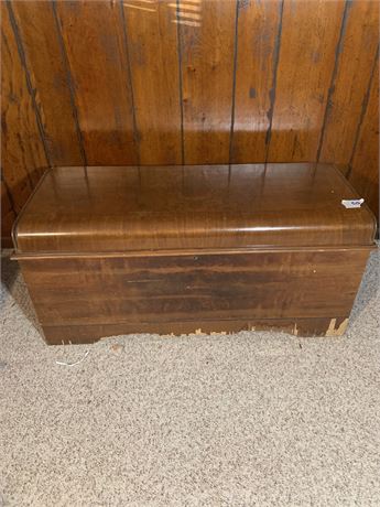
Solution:
{"label": "glossy brown chest lid with rounded front edge", "polygon": [[373,215],[333,165],[54,168],[24,206],[17,252],[372,245]]}

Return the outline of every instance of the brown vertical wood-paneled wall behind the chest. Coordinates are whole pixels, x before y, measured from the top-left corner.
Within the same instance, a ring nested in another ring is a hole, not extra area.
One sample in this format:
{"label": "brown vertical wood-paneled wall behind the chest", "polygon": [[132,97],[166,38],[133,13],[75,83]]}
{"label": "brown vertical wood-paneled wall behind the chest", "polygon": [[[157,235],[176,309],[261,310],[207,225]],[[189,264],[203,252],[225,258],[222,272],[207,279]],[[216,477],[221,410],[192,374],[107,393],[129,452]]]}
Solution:
{"label": "brown vertical wood-paneled wall behind the chest", "polygon": [[378,213],[377,0],[1,2],[2,235],[43,168],[323,161]]}

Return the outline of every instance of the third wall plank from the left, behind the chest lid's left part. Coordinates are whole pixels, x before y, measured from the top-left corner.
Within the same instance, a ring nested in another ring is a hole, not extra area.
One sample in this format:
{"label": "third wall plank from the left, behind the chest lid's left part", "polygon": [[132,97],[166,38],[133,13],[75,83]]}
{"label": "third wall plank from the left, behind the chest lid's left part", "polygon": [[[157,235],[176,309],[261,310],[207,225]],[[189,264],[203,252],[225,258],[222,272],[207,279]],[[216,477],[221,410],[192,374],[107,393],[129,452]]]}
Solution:
{"label": "third wall plank from the left, behind the chest lid's left part", "polygon": [[58,1],[88,164],[138,161],[129,62],[120,7],[113,1]]}

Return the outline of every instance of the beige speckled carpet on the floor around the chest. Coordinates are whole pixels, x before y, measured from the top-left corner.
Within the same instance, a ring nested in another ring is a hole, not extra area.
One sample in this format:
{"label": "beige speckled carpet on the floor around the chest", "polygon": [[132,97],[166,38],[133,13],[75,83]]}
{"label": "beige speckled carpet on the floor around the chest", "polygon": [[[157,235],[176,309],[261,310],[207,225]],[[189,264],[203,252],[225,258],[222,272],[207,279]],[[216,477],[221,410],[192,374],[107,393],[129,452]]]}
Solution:
{"label": "beige speckled carpet on the floor around the chest", "polygon": [[345,337],[90,347],[44,345],[6,258],[0,505],[380,506],[377,255]]}

